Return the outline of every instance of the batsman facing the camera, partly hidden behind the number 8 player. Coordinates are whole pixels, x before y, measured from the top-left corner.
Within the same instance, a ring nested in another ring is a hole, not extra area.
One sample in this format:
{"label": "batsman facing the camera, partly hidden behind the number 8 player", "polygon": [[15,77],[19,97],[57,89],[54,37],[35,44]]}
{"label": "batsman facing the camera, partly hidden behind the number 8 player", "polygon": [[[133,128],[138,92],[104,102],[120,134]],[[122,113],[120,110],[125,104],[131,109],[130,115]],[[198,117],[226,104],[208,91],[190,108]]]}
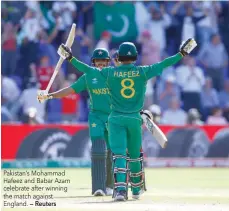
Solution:
{"label": "batsman facing the camera, partly hidden behind the number 8 player", "polygon": [[[61,57],[63,51],[58,51]],[[65,58],[65,57],[64,57]],[[71,63],[77,69],[84,67],[75,65],[76,59],[71,57]],[[92,194],[95,196],[112,195],[113,173],[112,153],[108,142],[107,121],[111,112],[110,95],[103,76],[99,71],[110,63],[110,55],[106,49],[95,49],[92,55],[92,66],[88,74],[81,76],[70,87],[54,93],[38,95],[38,100],[62,98],[72,93],[87,90],[90,96],[89,131],[92,140]],[[106,146],[105,146],[106,145]],[[105,150],[107,148],[107,152]]]}

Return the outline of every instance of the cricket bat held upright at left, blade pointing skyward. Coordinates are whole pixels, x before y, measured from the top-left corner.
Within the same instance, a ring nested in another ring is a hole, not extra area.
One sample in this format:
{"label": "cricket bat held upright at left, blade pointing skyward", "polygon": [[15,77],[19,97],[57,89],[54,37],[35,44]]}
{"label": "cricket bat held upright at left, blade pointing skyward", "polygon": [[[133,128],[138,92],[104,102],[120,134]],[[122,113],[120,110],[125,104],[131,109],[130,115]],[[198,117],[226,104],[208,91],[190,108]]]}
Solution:
{"label": "cricket bat held upright at left, blade pointing skyward", "polygon": [[[68,35],[68,39],[67,39],[67,41],[66,41],[66,43],[65,43],[65,45],[67,45],[69,48],[72,47],[72,44],[73,44],[73,42],[74,42],[74,39],[75,39],[75,31],[76,31],[76,24],[73,23],[73,24],[72,24],[71,31],[70,31],[70,33],[69,33],[69,35]],[[60,58],[59,58],[59,61],[58,61],[58,63],[57,63],[57,65],[56,65],[56,67],[55,67],[55,70],[54,70],[54,72],[53,72],[53,75],[52,75],[52,77],[51,77],[51,79],[50,79],[50,81],[49,81],[49,83],[48,83],[48,86],[47,86],[47,88],[46,88],[46,90],[45,90],[47,93],[49,92],[49,90],[50,90],[50,88],[51,88],[51,86],[52,86],[52,84],[53,84],[53,81],[55,80],[55,78],[56,78],[56,76],[57,76],[57,73],[59,72],[59,70],[60,70],[61,65],[63,64],[63,62],[64,62],[64,59],[60,57]]]}

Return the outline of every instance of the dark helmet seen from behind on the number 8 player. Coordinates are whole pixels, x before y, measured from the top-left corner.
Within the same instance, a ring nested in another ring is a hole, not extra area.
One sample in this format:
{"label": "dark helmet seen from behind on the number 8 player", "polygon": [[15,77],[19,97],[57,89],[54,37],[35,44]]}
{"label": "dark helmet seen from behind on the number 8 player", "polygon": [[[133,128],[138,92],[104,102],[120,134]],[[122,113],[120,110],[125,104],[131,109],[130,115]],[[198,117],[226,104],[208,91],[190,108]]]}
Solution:
{"label": "dark helmet seen from behind on the number 8 player", "polygon": [[119,46],[118,50],[118,59],[119,61],[136,61],[138,56],[138,51],[134,43],[132,42],[123,42]]}

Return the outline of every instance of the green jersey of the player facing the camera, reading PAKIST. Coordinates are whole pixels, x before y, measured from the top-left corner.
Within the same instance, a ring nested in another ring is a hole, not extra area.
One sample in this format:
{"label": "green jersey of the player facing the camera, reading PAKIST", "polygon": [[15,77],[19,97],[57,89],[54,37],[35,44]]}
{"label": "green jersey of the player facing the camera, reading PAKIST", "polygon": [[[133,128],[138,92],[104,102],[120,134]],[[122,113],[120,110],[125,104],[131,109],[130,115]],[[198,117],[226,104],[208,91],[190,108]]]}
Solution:
{"label": "green jersey of the player facing the camera, reading PAKIST", "polygon": [[103,113],[110,114],[110,93],[106,85],[106,81],[101,75],[99,69],[88,66],[84,63],[82,63],[82,65],[78,65],[78,60],[74,57],[71,59],[71,63],[79,71],[85,72],[83,76],[71,85],[71,88],[74,89],[76,93],[83,90],[88,91],[90,96],[91,111],[101,111]]}

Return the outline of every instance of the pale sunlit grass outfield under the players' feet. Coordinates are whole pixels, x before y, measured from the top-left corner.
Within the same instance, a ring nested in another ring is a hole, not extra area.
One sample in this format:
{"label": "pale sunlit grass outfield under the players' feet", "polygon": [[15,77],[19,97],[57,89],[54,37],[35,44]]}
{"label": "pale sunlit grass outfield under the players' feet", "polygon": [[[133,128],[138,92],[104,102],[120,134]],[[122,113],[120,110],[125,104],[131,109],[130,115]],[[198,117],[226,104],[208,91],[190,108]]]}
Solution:
{"label": "pale sunlit grass outfield under the players' feet", "polygon": [[[229,169],[226,168],[147,169],[147,191],[141,199],[134,201],[129,194],[127,202],[119,203],[113,202],[110,196],[91,196],[90,169],[43,169],[43,171],[48,172],[63,170],[66,170],[66,176],[62,179],[69,179],[70,184],[53,184],[52,186],[65,186],[68,188],[66,193],[63,191],[30,191],[31,195],[53,194],[53,199],[43,201],[56,202],[56,207],[35,207],[30,205],[34,203],[34,200],[29,199],[27,200],[27,208],[15,207],[14,210],[34,211],[43,208],[43,210],[50,211],[229,211]],[[4,176],[2,170],[2,186],[9,186],[7,183],[3,184],[4,178],[10,179],[11,176]],[[24,180],[33,177],[15,176],[14,178]],[[53,179],[53,181],[55,179],[52,176],[45,178]],[[32,188],[34,185],[29,184],[27,186]],[[44,188],[50,186],[47,184],[37,185]],[[20,185],[17,184],[17,186]],[[22,191],[13,193],[23,194]],[[3,208],[3,210],[9,209]]]}

